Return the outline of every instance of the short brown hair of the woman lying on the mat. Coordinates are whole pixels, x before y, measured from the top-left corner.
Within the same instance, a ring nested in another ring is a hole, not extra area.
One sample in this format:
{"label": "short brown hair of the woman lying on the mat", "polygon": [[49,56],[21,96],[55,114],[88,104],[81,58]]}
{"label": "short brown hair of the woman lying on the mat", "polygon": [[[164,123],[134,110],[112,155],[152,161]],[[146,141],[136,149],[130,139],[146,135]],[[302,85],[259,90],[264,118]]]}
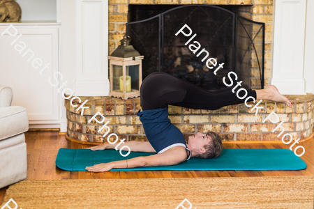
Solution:
{"label": "short brown hair of the woman lying on the mat", "polygon": [[223,150],[223,142],[219,134],[215,132],[207,132],[207,137],[211,137],[211,142],[209,144],[204,145],[204,149],[206,150],[205,153],[200,155],[196,155],[195,157],[204,158],[204,159],[211,159],[216,158],[220,155],[221,150]]}

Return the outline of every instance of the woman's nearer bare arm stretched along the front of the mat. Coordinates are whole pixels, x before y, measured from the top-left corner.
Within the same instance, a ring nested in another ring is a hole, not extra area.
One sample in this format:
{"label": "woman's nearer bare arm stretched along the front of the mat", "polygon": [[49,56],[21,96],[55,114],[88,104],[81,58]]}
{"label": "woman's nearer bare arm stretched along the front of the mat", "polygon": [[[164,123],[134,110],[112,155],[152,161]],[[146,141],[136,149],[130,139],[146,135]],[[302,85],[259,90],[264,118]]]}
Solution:
{"label": "woman's nearer bare arm stretched along the front of the mat", "polygon": [[158,167],[170,166],[184,162],[187,158],[186,149],[182,146],[176,146],[157,155],[150,155],[146,157],[134,157],[128,160],[119,160],[109,163],[96,164],[92,167],[86,167],[88,171],[102,172],[110,171],[111,169],[124,169],[135,167]]}

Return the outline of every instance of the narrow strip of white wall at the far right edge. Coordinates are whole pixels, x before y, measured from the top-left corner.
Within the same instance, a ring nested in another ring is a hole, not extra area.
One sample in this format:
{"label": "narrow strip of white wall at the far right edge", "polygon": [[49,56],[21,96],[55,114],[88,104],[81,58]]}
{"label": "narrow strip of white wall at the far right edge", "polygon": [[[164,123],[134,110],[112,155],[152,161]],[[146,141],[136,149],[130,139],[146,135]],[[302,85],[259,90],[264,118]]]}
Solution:
{"label": "narrow strip of white wall at the far right edge", "polygon": [[314,93],[314,1],[306,6],[306,40],[304,49],[304,79],[306,93]]}

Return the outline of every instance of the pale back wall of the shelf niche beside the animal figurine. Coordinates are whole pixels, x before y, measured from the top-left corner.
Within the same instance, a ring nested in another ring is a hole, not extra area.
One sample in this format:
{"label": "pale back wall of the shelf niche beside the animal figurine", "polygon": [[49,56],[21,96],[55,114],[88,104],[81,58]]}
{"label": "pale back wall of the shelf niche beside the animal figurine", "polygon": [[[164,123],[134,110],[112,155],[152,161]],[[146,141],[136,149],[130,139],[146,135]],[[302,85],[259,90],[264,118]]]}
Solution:
{"label": "pale back wall of the shelf niche beside the animal figurine", "polygon": [[57,20],[56,0],[16,0],[16,2],[22,9],[21,20]]}

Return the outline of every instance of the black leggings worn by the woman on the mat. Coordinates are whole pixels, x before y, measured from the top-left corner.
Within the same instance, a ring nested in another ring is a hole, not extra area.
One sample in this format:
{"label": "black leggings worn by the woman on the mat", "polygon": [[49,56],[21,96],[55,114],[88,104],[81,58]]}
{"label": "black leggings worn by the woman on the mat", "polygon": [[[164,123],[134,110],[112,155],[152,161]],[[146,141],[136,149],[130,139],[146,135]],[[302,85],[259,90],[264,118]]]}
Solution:
{"label": "black leggings worn by the woman on the mat", "polygon": [[[219,109],[232,104],[244,103],[249,96],[255,98],[255,90],[247,90],[248,95],[244,99],[237,97],[238,86],[234,93],[231,88],[218,91],[207,91],[190,82],[178,79],[165,72],[153,72],[142,82],[140,88],[140,100],[143,110],[158,109],[168,104],[192,109]],[[239,91],[239,97],[243,97],[245,91]],[[252,98],[248,102],[253,101]]]}

